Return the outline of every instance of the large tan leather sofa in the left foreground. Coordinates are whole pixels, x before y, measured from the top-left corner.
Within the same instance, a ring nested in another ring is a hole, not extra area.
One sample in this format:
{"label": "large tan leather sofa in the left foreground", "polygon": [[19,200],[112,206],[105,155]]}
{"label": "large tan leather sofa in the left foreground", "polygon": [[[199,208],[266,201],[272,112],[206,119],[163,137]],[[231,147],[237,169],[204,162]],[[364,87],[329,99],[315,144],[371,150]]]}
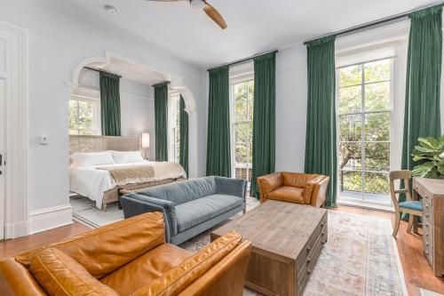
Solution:
{"label": "large tan leather sofa in the left foreground", "polygon": [[195,254],[150,212],[0,261],[0,295],[242,295],[251,244],[235,232]]}

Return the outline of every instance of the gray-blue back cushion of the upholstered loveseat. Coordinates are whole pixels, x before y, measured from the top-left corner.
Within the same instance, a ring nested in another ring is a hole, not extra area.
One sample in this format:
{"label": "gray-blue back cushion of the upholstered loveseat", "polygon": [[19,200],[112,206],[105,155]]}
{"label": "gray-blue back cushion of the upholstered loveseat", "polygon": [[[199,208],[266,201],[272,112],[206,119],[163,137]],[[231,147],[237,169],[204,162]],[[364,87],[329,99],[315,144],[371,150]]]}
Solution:
{"label": "gray-blue back cushion of the upholstered loveseat", "polygon": [[216,194],[216,183],[214,177],[204,177],[148,189],[139,192],[139,194],[168,200],[178,205]]}

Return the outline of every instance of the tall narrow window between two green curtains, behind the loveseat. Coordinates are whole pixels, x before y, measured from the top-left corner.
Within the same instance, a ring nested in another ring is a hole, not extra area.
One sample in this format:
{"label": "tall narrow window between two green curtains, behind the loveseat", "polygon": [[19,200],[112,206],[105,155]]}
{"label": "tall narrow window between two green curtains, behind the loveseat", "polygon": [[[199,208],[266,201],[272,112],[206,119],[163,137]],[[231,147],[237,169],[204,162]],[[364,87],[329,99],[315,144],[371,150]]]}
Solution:
{"label": "tall narrow window between two green curtains, behind the loveseat", "polygon": [[252,79],[231,84],[232,92],[232,151],[234,178],[251,181],[253,140]]}

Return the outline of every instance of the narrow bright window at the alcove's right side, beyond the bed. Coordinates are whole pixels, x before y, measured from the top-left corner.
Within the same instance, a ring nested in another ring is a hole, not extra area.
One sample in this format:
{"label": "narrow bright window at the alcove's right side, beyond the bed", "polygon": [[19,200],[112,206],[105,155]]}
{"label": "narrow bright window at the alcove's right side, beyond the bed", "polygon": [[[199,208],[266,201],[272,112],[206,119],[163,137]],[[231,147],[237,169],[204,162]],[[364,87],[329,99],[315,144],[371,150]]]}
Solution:
{"label": "narrow bright window at the alcove's right side, beyond the bed", "polygon": [[178,163],[179,148],[180,148],[180,95],[178,93],[171,93],[169,100],[169,158],[171,162]]}

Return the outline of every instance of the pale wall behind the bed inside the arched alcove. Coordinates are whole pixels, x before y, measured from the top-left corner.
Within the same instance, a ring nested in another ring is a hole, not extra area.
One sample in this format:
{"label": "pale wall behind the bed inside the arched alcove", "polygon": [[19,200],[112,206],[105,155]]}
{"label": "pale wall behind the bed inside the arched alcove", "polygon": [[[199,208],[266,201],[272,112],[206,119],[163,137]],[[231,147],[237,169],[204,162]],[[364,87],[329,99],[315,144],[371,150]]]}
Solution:
{"label": "pale wall behind the bed inside the arched alcove", "polygon": [[[83,69],[79,75],[79,85],[99,91],[99,72]],[[151,147],[147,156],[155,159],[155,100],[151,85],[120,79],[121,127],[123,136],[140,136],[149,132]]]}

